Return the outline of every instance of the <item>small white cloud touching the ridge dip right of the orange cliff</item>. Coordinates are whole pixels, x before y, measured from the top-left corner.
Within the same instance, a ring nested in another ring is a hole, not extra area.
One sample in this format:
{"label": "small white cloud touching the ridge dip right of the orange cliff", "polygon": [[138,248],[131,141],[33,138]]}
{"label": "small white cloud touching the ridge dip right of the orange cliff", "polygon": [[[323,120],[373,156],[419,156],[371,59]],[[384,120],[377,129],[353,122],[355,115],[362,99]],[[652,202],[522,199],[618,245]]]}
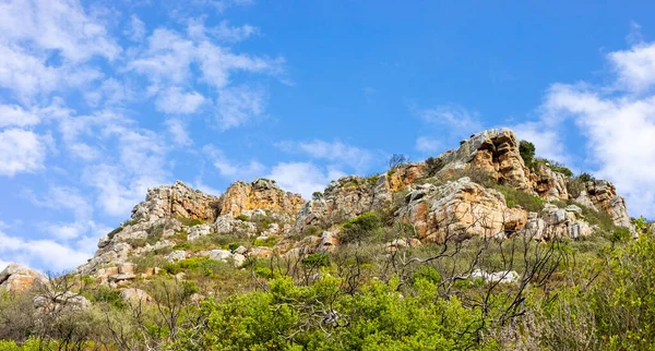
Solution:
{"label": "small white cloud touching the ridge dip right of the orange cliff", "polygon": [[343,172],[335,169],[325,172],[311,162],[282,162],[273,167],[265,178],[275,180],[285,191],[311,198],[313,192],[322,192],[332,180],[343,175]]}

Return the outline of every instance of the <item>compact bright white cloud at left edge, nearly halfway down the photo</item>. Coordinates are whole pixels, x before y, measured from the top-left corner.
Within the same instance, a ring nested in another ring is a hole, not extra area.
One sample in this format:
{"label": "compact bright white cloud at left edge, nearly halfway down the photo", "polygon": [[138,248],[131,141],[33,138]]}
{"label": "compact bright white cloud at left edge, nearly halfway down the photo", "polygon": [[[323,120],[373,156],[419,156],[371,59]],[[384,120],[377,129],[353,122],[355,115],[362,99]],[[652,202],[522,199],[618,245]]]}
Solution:
{"label": "compact bright white cloud at left edge, nearly halfway down the photo", "polygon": [[43,169],[47,152],[43,138],[21,129],[0,132],[0,175],[12,177]]}

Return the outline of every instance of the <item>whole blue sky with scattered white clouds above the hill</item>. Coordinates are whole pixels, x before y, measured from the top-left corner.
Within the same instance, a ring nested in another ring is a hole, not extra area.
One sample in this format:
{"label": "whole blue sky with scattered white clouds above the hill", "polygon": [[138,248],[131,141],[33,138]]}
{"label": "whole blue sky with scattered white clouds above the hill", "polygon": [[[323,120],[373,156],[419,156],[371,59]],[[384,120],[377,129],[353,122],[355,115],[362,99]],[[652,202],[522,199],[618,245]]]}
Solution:
{"label": "whole blue sky with scattered white clouds above the hill", "polygon": [[510,126],[655,217],[655,3],[0,0],[0,266],[175,180],[305,196]]}

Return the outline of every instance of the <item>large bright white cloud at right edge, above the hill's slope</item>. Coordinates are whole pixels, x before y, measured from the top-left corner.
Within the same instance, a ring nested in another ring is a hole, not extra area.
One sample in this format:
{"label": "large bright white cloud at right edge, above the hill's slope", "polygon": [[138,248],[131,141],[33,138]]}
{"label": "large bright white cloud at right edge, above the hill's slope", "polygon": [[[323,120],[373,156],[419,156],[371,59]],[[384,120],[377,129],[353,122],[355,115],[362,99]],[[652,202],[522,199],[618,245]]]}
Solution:
{"label": "large bright white cloud at right edge, above the hill's slope", "polygon": [[633,215],[655,216],[655,96],[605,96],[557,84],[545,108],[575,121],[598,165],[595,174],[617,185]]}

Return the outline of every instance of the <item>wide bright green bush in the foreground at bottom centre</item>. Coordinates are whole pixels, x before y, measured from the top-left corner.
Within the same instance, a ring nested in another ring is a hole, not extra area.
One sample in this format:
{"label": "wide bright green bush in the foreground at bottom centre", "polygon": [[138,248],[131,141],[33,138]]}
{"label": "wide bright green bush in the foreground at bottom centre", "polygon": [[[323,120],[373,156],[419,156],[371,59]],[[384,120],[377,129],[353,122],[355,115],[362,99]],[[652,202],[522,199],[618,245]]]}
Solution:
{"label": "wide bright green bush in the foreground at bottom centre", "polygon": [[[288,278],[257,291],[202,306],[201,337],[180,338],[177,350],[452,350],[495,349],[475,341],[480,325],[472,310],[451,298],[433,300],[436,286],[415,282],[418,294],[395,291],[397,282],[373,282],[361,293],[336,294],[341,280],[323,276],[310,287]],[[338,296],[334,300],[334,296]],[[325,315],[321,306],[335,312]],[[347,318],[347,319],[346,319]],[[347,322],[346,322],[347,320]],[[330,337],[327,337],[327,335]],[[189,334],[191,335],[191,334]]]}

